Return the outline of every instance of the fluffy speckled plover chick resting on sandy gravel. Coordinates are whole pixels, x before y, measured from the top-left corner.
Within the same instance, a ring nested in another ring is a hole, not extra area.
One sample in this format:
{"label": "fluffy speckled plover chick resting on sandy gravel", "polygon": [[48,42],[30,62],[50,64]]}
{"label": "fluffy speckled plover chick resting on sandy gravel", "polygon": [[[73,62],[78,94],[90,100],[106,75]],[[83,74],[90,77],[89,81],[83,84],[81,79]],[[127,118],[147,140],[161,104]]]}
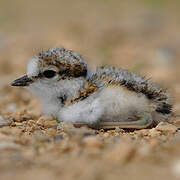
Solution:
{"label": "fluffy speckled plover chick resting on sandy gravel", "polygon": [[80,55],[64,48],[35,55],[27,74],[11,85],[27,87],[59,122],[97,129],[153,127],[172,109],[167,94],[149,80],[110,66],[91,73]]}

